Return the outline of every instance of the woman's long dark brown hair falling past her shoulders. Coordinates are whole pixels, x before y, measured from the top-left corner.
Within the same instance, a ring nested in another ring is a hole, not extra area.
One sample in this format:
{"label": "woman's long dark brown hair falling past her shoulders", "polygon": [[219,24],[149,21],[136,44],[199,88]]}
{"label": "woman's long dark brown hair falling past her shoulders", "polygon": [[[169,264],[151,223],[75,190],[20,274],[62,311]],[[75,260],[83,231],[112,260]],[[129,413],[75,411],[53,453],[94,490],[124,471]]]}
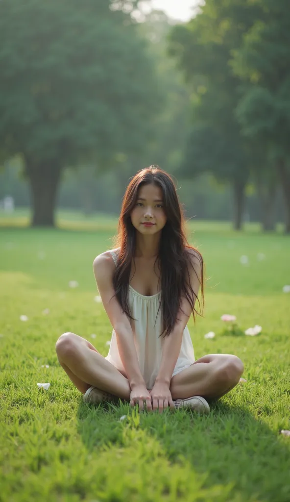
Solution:
{"label": "woman's long dark brown hair falling past her shoulders", "polygon": [[[160,260],[161,272],[161,303],[163,331],[162,336],[168,336],[177,320],[181,306],[181,296],[184,295],[193,312],[194,323],[196,315],[201,315],[195,310],[195,293],[190,285],[191,256],[194,254],[201,265],[201,296],[204,305],[204,262],[200,252],[188,243],[185,233],[185,218],[183,208],[178,200],[176,187],[172,177],[153,165],[138,171],[131,179],[125,191],[118,222],[118,234],[114,239],[114,246],[120,247],[117,267],[113,277],[116,297],[123,312],[133,319],[128,305],[128,288],[131,271],[131,262],[135,256],[136,229],[130,218],[130,213],[135,207],[138,189],[143,185],[156,185],[163,192],[163,206],[167,222],[163,227],[157,260]],[[156,263],[156,262],[155,262]],[[196,273],[196,271],[195,271]],[[197,275],[197,273],[196,273]],[[173,294],[174,291],[174,294]],[[197,298],[200,307],[200,301]]]}

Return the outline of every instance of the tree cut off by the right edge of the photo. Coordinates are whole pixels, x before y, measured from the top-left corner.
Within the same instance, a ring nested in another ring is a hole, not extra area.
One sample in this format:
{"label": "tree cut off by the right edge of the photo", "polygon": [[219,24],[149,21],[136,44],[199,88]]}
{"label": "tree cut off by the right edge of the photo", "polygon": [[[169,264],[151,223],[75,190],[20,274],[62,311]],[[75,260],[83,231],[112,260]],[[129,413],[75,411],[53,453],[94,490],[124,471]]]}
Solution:
{"label": "tree cut off by the right edge of the photo", "polygon": [[243,133],[263,148],[281,181],[290,232],[290,11],[287,0],[257,0],[261,18],[234,51],[243,79],[237,117]]}

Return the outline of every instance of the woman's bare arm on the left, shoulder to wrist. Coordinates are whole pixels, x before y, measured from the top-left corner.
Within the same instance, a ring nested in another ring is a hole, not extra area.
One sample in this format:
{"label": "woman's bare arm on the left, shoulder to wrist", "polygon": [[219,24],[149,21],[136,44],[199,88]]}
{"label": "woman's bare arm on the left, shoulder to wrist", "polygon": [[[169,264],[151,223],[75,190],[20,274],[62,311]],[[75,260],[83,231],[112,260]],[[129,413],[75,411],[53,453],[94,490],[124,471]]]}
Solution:
{"label": "woman's bare arm on the left, shoulder to wrist", "polygon": [[108,256],[106,252],[95,258],[93,270],[103,306],[116,333],[120,358],[130,387],[131,389],[137,386],[146,388],[139,367],[130,321],[114,296],[113,274],[115,265],[111,256]]}

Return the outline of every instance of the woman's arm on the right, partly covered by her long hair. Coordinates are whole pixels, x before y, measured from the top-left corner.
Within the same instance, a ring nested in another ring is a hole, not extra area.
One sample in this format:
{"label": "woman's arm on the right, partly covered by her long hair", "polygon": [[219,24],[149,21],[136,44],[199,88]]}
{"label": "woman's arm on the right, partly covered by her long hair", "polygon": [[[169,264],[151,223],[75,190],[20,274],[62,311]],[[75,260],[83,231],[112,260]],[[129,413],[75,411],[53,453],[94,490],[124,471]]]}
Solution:
{"label": "woman's arm on the right, partly covered by her long hair", "polygon": [[[200,258],[196,255],[191,255],[191,270],[190,270],[190,284],[194,291],[193,302],[195,304],[198,296],[200,282],[201,282],[201,262]],[[180,353],[183,331],[188,323],[192,314],[192,308],[187,298],[182,297],[181,308],[178,312],[178,319],[170,335],[166,337],[162,349],[162,359],[159,368],[159,373],[156,378],[156,384],[162,383],[170,386],[172,373],[174,371],[177,359]]]}

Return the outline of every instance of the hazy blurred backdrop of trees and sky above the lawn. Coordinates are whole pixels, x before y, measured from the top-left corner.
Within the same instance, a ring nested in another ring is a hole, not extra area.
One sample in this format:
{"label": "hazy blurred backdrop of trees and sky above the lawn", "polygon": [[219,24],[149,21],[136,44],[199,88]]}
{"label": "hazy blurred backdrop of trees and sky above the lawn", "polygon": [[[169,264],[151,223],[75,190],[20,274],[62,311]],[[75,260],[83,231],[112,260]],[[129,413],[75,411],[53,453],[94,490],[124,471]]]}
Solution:
{"label": "hazy blurred backdrop of trees and sky above the lawn", "polygon": [[288,0],[0,3],[0,216],[117,216],[159,164],[187,218],[290,233],[289,133]]}

